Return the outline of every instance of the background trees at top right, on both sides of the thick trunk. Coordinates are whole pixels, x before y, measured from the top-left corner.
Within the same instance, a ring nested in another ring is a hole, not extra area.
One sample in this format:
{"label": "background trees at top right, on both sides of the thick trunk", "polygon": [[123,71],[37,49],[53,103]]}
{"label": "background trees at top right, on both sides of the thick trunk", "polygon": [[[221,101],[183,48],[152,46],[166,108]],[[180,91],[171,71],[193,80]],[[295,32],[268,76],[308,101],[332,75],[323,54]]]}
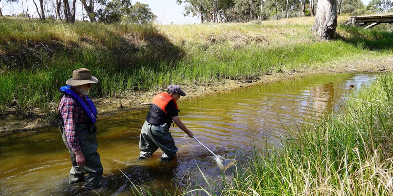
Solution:
{"label": "background trees at top right, on both sides of the thick trunk", "polygon": [[[176,0],[185,6],[184,15],[197,16],[204,22],[248,22],[314,16],[317,0]],[[392,0],[337,0],[337,14],[390,12]]]}

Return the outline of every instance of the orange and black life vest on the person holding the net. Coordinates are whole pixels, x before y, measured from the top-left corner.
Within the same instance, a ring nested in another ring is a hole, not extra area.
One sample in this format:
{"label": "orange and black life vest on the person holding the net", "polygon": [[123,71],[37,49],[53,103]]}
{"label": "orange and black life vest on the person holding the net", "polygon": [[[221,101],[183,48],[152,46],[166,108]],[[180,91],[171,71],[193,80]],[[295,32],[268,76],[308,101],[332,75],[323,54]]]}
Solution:
{"label": "orange and black life vest on the person holding the net", "polygon": [[171,100],[173,100],[176,105],[176,109],[178,109],[176,100],[168,93],[162,92],[154,96],[153,100],[151,101],[149,112],[146,115],[146,121],[153,125],[167,123],[168,127],[170,127],[170,124],[172,123],[172,117],[168,114],[165,107],[167,107],[169,101]]}

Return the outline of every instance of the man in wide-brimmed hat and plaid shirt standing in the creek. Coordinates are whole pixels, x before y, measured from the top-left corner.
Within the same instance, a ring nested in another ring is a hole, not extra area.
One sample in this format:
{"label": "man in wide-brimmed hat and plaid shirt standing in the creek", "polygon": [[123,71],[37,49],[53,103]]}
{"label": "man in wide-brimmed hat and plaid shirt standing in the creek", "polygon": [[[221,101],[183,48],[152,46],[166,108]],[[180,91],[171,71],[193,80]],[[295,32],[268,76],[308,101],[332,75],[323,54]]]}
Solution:
{"label": "man in wide-brimmed hat and plaid shirt standing in the creek", "polygon": [[87,96],[97,82],[90,70],[80,68],[72,72],[72,78],[65,82],[67,86],[60,88],[64,95],[59,104],[59,127],[72,163],[69,183],[84,182],[86,189],[97,188],[103,174],[97,153],[97,109]]}

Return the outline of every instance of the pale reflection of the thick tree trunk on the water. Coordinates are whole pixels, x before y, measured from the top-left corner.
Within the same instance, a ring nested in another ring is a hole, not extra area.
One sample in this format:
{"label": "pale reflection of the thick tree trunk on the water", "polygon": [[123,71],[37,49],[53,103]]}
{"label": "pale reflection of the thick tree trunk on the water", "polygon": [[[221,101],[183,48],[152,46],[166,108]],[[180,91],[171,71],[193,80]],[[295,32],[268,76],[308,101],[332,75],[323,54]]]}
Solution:
{"label": "pale reflection of the thick tree trunk on the water", "polygon": [[313,95],[313,107],[320,113],[330,112],[333,109],[333,101],[335,97],[333,82],[325,83],[322,86],[311,87],[309,95]]}

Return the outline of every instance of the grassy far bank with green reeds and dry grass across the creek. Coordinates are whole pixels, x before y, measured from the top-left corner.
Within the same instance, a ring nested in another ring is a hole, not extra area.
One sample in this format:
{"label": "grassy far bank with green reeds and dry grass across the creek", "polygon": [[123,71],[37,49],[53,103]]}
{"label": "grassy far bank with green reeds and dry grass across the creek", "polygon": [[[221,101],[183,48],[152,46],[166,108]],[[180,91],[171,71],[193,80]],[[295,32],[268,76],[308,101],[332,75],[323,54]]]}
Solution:
{"label": "grassy far bank with green reeds and dry grass across the creek", "polygon": [[55,114],[58,88],[80,67],[100,80],[91,97],[115,98],[170,83],[246,80],[392,55],[387,28],[339,25],[337,40],[319,41],[313,22],[140,26],[1,17],[0,111]]}

